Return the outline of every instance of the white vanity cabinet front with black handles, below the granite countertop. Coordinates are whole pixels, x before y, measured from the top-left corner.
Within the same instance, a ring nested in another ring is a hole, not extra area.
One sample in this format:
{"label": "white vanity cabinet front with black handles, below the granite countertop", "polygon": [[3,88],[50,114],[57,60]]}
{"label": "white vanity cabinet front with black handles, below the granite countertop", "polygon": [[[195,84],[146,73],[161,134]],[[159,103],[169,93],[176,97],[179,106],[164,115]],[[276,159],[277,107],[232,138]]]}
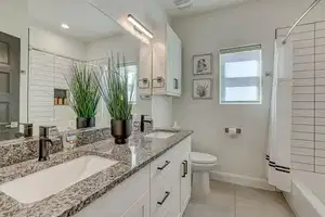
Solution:
{"label": "white vanity cabinet front with black handles, below the granite countertop", "polygon": [[182,216],[191,196],[190,153],[187,137],[75,216]]}

